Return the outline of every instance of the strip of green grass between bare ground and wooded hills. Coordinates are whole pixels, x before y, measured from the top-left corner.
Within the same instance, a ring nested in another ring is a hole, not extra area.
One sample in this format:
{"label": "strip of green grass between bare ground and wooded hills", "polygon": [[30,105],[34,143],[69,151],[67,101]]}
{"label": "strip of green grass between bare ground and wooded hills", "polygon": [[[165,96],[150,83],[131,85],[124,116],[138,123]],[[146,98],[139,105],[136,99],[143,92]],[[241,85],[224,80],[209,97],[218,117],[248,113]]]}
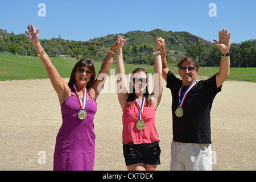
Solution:
{"label": "strip of green grass between bare ground and wooded hills", "polygon": [[[63,57],[51,57],[51,61],[63,78],[70,77],[72,68],[77,62],[77,60]],[[101,68],[101,62],[94,62],[93,64],[96,73],[98,73]],[[125,64],[126,74],[133,72],[135,68],[139,67],[146,69],[148,73],[154,73],[154,66],[152,65]],[[115,74],[117,74],[116,65],[113,64],[111,68],[115,69]],[[175,75],[178,75],[177,67],[168,66],[168,68]],[[217,73],[218,70],[218,67],[200,67],[199,75],[210,77]],[[0,54],[0,81],[43,78],[48,78],[48,75],[38,57]],[[230,68],[229,79],[256,82],[256,68]]]}

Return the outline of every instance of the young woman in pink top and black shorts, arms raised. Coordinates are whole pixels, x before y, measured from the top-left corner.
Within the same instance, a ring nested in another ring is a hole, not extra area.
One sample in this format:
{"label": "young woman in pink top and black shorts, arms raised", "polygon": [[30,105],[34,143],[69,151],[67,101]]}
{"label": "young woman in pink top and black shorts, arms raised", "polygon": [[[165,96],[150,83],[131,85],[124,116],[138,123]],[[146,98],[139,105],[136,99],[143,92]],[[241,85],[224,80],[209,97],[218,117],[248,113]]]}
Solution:
{"label": "young woman in pink top and black shorts, arms raised", "polygon": [[148,93],[148,75],[145,69],[137,68],[130,78],[130,92],[125,87],[125,66],[122,47],[117,48],[117,93],[123,111],[123,156],[128,170],[155,170],[160,164],[160,140],[155,128],[155,110],[162,96],[162,62],[159,53],[161,38],[155,46],[155,86]]}

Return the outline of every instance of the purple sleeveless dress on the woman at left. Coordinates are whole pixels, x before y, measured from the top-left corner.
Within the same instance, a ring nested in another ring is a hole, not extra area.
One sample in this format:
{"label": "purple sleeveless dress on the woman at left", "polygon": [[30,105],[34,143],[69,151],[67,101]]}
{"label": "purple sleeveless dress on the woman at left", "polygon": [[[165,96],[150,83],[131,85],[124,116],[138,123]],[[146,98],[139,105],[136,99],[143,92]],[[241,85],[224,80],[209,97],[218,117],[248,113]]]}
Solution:
{"label": "purple sleeveless dress on the woman at left", "polygon": [[87,116],[84,120],[77,117],[80,110],[79,99],[75,90],[61,105],[63,123],[56,137],[53,160],[55,171],[93,171],[95,159],[94,114],[96,101],[90,96],[86,102]]}

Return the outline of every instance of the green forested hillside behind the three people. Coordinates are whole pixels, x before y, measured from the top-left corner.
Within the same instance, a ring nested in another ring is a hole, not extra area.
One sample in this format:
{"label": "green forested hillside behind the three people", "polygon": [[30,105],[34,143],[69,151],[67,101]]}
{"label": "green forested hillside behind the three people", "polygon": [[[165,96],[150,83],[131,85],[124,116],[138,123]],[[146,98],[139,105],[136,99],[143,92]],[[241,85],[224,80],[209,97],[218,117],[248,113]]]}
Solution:
{"label": "green forested hillside behind the three people", "polygon": [[[64,40],[52,38],[40,40],[50,56],[70,56],[76,59],[92,59],[103,61],[108,49],[119,36],[125,36],[123,57],[130,64],[154,64],[155,40],[162,37],[166,42],[167,62],[177,64],[184,56],[192,56],[201,66],[218,67],[220,51],[215,44],[189,34],[189,32],[172,32],[163,30],[130,31],[122,34],[106,35],[88,41]],[[36,56],[33,45],[26,34],[14,35],[0,29],[0,51],[18,55]],[[256,67],[256,40],[247,40],[240,44],[232,44],[230,51],[231,67]]]}

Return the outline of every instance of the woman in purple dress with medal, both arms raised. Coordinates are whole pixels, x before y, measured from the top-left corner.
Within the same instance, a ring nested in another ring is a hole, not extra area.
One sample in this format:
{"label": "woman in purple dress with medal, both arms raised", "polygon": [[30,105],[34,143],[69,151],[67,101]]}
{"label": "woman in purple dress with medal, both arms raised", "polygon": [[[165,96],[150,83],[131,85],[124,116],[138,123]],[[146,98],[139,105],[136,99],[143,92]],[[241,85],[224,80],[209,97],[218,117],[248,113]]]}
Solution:
{"label": "woman in purple dress with medal, both arms raised", "polygon": [[41,46],[40,30],[36,31],[32,24],[29,24],[27,29],[26,34],[46,67],[61,106],[63,123],[56,137],[53,170],[92,171],[95,158],[93,119],[97,111],[96,99],[103,86],[101,81],[105,80],[113,63],[115,50],[120,40],[115,41],[109,49],[108,56],[103,61],[99,72],[101,78],[96,78],[92,61],[80,60],[73,68],[67,84],[60,77]]}

